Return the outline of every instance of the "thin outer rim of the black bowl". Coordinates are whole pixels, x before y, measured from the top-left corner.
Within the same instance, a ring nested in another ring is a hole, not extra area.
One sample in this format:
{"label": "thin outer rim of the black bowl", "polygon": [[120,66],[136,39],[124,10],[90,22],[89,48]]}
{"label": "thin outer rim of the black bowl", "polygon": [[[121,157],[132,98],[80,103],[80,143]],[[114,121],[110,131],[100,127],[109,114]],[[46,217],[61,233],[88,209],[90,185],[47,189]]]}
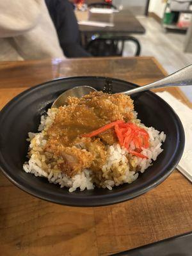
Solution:
{"label": "thin outer rim of the black bowl", "polygon": [[[27,90],[24,90],[24,92],[19,93],[18,95],[16,95],[15,97],[13,97],[12,100],[10,100],[4,107],[3,109],[1,109],[0,111],[0,123],[1,123],[1,118],[3,118],[3,115],[6,114],[6,111],[10,108],[10,106],[12,106],[12,104],[14,104],[15,102],[17,102],[17,100],[22,100],[20,99],[20,97],[22,96],[28,96],[28,94],[30,94],[31,92],[34,92],[35,90],[38,90],[38,88],[42,88],[42,86],[49,86],[49,84],[52,84],[56,81],[67,81],[67,79],[112,79],[113,81],[116,82],[121,82],[121,83],[127,83],[133,87],[138,87],[137,84],[134,83],[130,83],[129,81],[124,81],[122,79],[116,79],[113,77],[103,77],[103,76],[74,76],[74,77],[59,77],[57,79],[53,79],[51,81],[46,81],[44,83],[41,84],[37,84],[36,86],[32,86],[31,88],[28,88]],[[146,92],[145,92],[146,93]],[[172,109],[172,107],[166,102],[164,101],[161,97],[159,97],[158,95],[156,95],[156,93],[148,91],[147,93],[150,93],[150,95],[155,95],[155,97],[158,97],[160,100],[162,100],[164,102],[164,104],[166,106],[168,106],[168,108],[170,108],[172,110],[172,113],[175,115],[176,119],[177,119],[177,124],[179,125],[179,132],[180,132],[180,138],[182,139],[183,143],[179,143],[179,148],[177,150],[177,153],[175,153],[175,157],[172,160],[172,164],[169,168],[168,171],[166,171],[166,173],[161,173],[161,177],[157,177],[155,180],[150,180],[150,182],[146,182],[145,187],[141,188],[139,191],[137,189],[132,189],[133,191],[131,193],[129,193],[129,195],[126,194],[126,190],[124,191],[118,191],[117,193],[113,193],[111,195],[96,195],[96,196],[92,196],[93,201],[91,202],[86,202],[89,199],[89,196],[84,196],[84,198],[77,198],[76,196],[70,197],[70,199],[68,200],[68,196],[65,195],[63,193],[63,197],[59,197],[58,195],[54,195],[53,197],[50,197],[51,194],[46,193],[43,190],[40,189],[35,189],[35,188],[31,188],[31,186],[27,183],[22,184],[22,182],[19,182],[19,179],[13,179],[13,175],[11,172],[9,172],[8,168],[7,168],[7,164],[3,159],[3,156],[1,154],[1,145],[0,145],[0,170],[3,172],[3,174],[5,175],[5,177],[7,177],[13,184],[15,184],[15,186],[17,186],[18,188],[22,189],[22,191],[25,191],[26,193],[28,193],[29,195],[33,195],[36,196],[37,198],[43,199],[47,202],[52,202],[55,204],[60,204],[60,205],[68,205],[68,206],[74,206],[74,207],[97,207],[97,206],[104,206],[104,205],[112,205],[112,204],[117,204],[120,202],[125,202],[127,200],[131,200],[133,198],[136,198],[140,195],[143,195],[144,193],[147,193],[147,191],[149,191],[152,188],[156,188],[156,186],[158,186],[159,184],[161,184],[161,182],[163,182],[175,169],[175,167],[177,166],[177,164],[179,163],[180,158],[182,157],[182,153],[184,151],[184,142],[185,142],[185,136],[184,136],[184,128],[182,126],[182,122],[180,121],[179,116],[177,115],[177,113],[175,113],[175,111]],[[0,141],[1,143],[1,141]],[[29,185],[29,186],[26,186]],[[71,194],[71,193],[70,193]],[[58,198],[57,198],[58,197]],[[112,200],[111,200],[112,198]]]}

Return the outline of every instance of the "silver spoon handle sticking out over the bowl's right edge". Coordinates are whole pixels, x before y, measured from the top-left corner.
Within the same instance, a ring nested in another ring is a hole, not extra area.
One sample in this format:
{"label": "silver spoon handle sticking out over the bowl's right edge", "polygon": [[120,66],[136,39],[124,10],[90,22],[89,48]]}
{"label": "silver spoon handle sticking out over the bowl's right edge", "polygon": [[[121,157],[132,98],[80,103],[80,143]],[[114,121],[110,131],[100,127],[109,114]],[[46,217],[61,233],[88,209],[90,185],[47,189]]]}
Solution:
{"label": "silver spoon handle sticking out over the bowl's right edge", "polygon": [[164,77],[163,79],[158,80],[154,83],[150,83],[122,93],[131,95],[133,93],[143,92],[150,89],[186,85],[192,85],[192,65],[182,68],[179,71],[171,74],[170,76]]}

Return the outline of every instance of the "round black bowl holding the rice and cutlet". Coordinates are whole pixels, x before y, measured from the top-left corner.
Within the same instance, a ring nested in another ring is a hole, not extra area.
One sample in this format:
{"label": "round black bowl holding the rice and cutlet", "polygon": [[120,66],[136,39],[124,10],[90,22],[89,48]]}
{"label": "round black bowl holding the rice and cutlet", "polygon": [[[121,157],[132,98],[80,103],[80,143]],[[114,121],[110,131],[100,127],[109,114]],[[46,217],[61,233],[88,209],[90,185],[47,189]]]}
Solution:
{"label": "round black bowl holding the rice and cutlet", "polygon": [[[106,77],[68,77],[40,84],[12,99],[0,114],[0,163],[4,175],[20,189],[57,204],[73,206],[109,205],[139,196],[163,182],[173,171],[184,150],[184,130],[179,117],[172,108],[152,92],[133,95],[138,117],[147,126],[166,133],[163,152],[145,173],[132,184],[108,189],[72,193],[67,188],[50,184],[47,179],[35,177],[22,170],[29,143],[28,132],[36,132],[40,116],[51,107],[52,102],[65,90],[74,86],[90,85],[103,90]],[[112,79],[113,92],[122,92],[136,85]]]}

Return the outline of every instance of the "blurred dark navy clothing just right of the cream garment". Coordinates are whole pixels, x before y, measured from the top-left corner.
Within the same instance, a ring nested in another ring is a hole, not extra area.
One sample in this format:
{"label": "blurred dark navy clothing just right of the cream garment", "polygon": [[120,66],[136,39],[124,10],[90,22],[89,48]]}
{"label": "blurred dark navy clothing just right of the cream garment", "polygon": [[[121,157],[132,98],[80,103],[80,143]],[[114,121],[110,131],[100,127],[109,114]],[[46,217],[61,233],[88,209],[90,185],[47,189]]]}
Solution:
{"label": "blurred dark navy clothing just right of the cream garment", "polygon": [[72,3],[68,0],[45,0],[45,3],[65,56],[68,58],[90,57],[91,54],[81,47],[79,28]]}

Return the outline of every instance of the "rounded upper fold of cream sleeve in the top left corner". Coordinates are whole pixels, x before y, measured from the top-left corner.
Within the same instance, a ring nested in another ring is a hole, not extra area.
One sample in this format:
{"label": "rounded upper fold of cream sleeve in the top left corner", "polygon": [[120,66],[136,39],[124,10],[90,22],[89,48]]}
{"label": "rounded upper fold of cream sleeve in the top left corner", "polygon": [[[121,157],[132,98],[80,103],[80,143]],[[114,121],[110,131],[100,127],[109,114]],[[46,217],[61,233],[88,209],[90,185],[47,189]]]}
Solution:
{"label": "rounded upper fold of cream sleeve in the top left corner", "polygon": [[40,19],[42,1],[0,1],[0,38],[22,35],[33,29]]}

